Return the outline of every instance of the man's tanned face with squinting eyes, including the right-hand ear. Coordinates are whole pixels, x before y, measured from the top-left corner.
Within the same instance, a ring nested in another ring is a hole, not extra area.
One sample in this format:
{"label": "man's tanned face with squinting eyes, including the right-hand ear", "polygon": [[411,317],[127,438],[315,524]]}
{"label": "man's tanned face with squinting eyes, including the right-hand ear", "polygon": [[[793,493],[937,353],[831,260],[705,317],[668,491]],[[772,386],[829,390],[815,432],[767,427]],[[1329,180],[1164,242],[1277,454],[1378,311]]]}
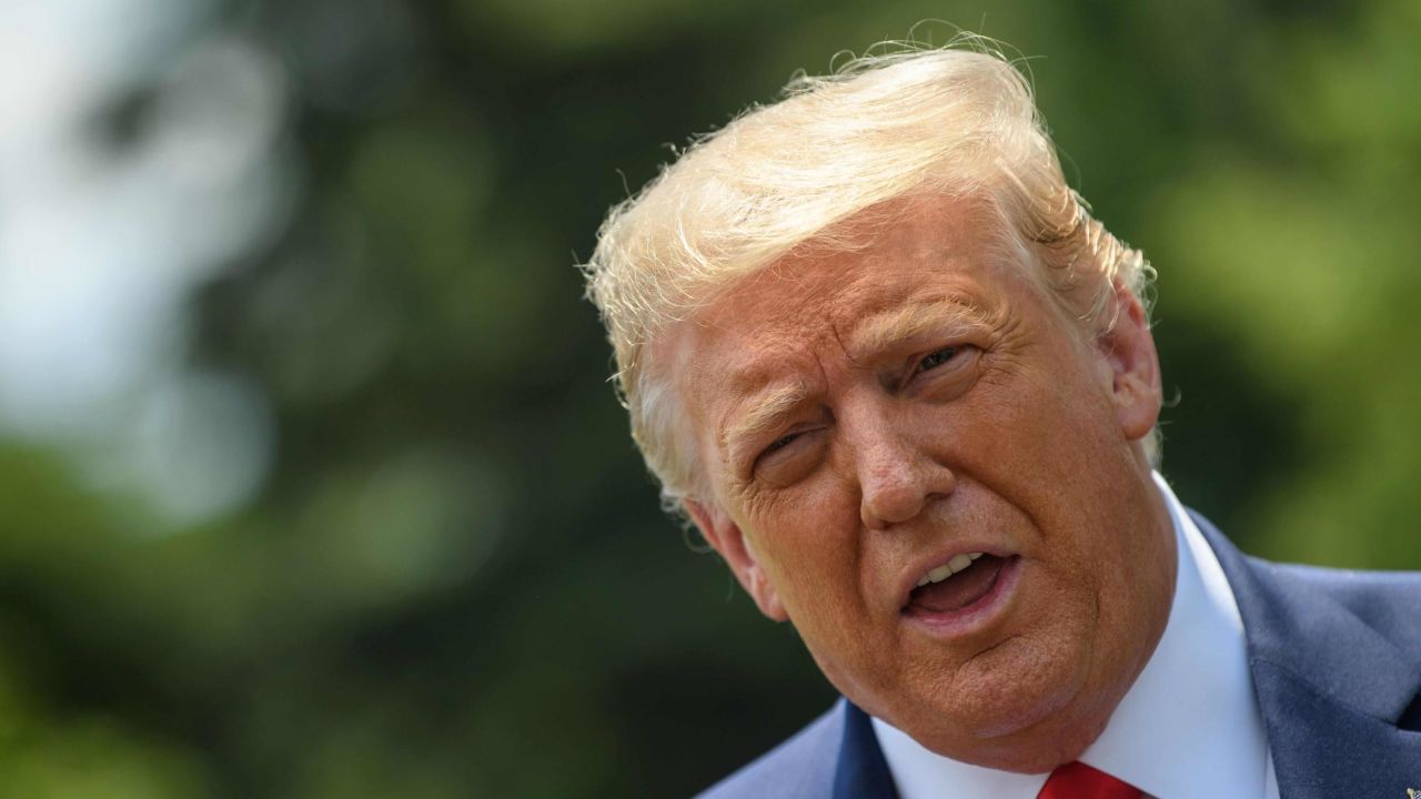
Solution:
{"label": "man's tanned face with squinting eyes, including the right-hand ear", "polygon": [[1124,291],[1108,334],[1079,331],[978,203],[902,212],[658,343],[712,486],[688,508],[855,704],[956,759],[1046,771],[1100,734],[1168,618],[1140,448],[1154,344]]}

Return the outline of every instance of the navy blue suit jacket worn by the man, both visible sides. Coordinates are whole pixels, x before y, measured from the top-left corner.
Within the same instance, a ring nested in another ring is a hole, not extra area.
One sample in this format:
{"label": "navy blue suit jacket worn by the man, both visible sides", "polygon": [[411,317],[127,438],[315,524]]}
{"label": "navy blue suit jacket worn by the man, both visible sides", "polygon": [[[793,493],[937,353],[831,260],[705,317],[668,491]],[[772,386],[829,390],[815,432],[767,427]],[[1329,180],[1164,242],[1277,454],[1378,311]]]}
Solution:
{"label": "navy blue suit jacket worn by the man, both visible sides", "polygon": [[[1282,799],[1421,789],[1421,573],[1282,566],[1195,515],[1243,616]],[[702,799],[897,799],[868,715],[840,699]]]}

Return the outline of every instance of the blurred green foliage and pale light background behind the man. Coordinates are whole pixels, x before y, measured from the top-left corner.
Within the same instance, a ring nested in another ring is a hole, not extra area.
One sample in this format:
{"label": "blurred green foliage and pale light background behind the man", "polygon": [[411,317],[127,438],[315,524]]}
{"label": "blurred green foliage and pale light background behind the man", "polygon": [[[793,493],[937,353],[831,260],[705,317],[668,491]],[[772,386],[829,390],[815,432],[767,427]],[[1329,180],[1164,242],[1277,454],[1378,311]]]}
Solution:
{"label": "blurred green foliage and pale light background behind the man", "polygon": [[1421,567],[1414,0],[14,0],[0,790],[684,796],[826,707],[659,515],[573,264],[924,18],[1030,58],[1158,269],[1181,496]]}

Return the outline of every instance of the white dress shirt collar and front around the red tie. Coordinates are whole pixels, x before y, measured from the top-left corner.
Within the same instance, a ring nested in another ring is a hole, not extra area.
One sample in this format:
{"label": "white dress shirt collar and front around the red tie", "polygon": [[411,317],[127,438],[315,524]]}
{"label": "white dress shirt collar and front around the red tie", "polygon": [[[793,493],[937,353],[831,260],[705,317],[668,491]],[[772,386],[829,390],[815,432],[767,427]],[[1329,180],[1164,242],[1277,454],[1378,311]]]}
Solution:
{"label": "white dress shirt collar and front around the red tie", "polygon": [[[1160,645],[1080,761],[1158,799],[1277,799],[1243,618],[1204,533],[1157,472],[1179,572]],[[874,718],[902,799],[1034,799],[1044,773],[959,763]]]}

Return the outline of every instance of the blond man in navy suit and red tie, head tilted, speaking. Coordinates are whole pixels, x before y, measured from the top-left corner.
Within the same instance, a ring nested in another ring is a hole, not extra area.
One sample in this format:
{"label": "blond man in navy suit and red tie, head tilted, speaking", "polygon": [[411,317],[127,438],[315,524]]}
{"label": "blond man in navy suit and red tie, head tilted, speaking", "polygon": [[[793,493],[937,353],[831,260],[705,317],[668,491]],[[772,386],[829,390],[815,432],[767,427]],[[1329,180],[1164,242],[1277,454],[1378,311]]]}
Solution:
{"label": "blond man in navy suit and red tie, head tilted, speaking", "polygon": [[801,80],[614,209],[588,276],[668,503],[845,698],[712,796],[1421,786],[1421,577],[1184,510],[1148,267],[1005,60]]}

